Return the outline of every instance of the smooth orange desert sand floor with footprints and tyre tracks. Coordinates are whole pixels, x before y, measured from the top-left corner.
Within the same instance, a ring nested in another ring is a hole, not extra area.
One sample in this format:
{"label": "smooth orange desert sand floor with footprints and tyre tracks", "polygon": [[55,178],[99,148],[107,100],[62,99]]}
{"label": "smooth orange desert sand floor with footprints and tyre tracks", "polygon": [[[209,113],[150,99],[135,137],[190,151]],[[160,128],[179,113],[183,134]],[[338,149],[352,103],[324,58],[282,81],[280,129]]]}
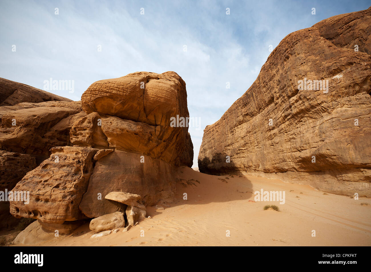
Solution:
{"label": "smooth orange desert sand floor with footprints and tyre tracks", "polygon": [[[177,200],[163,210],[147,207],[147,216],[152,218],[127,232],[120,228],[117,233],[90,238],[93,232],[87,223],[68,236],[33,246],[371,245],[370,199],[324,195],[308,185],[278,179],[207,175],[188,167],[179,168],[179,174],[188,182],[178,182]],[[261,188],[285,191],[285,204],[252,202],[253,192]],[[277,205],[280,211],[263,210],[265,205]]]}

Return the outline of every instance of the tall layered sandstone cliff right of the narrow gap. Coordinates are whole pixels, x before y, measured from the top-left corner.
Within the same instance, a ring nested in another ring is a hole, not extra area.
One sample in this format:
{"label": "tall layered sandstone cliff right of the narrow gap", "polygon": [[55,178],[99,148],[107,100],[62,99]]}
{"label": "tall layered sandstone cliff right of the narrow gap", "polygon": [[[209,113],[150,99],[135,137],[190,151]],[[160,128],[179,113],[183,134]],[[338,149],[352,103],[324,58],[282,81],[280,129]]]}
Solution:
{"label": "tall layered sandstone cliff right of the narrow gap", "polygon": [[[370,20],[371,8],[286,36],[249,90],[205,128],[200,172],[371,196]],[[315,80],[322,88],[311,88]]]}

